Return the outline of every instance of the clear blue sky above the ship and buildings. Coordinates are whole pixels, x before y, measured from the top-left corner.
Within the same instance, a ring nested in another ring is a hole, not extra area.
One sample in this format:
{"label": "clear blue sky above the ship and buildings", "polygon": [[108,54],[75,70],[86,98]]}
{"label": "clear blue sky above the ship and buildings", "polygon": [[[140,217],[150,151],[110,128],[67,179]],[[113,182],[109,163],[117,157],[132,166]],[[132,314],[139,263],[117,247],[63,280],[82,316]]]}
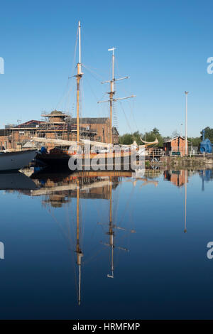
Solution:
{"label": "clear blue sky above the ship and buildings", "polygon": [[[99,80],[109,80],[107,49],[116,46],[116,75],[130,76],[117,85],[117,97],[136,95],[122,102],[126,117],[116,105],[121,134],[155,126],[165,136],[180,131],[188,90],[188,135],[199,136],[213,127],[212,9],[209,1],[1,1],[0,127],[75,107],[75,82],[67,77],[80,20],[82,63],[93,71],[84,68],[83,116],[107,114],[97,100],[109,87]],[[65,102],[66,87],[72,92]]]}

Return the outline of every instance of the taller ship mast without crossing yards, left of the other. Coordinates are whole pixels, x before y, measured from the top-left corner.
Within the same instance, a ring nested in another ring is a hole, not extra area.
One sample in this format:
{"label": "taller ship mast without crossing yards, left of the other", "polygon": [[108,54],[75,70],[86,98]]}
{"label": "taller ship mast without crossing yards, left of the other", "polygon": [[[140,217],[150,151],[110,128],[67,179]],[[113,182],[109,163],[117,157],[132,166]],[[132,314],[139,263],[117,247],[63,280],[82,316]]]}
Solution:
{"label": "taller ship mast without crossing yards, left of the other", "polygon": [[83,75],[82,73],[82,63],[81,63],[81,23],[78,22],[78,44],[79,44],[79,62],[77,63],[77,144],[80,142],[80,122],[79,122],[79,110],[80,110],[80,79]]}

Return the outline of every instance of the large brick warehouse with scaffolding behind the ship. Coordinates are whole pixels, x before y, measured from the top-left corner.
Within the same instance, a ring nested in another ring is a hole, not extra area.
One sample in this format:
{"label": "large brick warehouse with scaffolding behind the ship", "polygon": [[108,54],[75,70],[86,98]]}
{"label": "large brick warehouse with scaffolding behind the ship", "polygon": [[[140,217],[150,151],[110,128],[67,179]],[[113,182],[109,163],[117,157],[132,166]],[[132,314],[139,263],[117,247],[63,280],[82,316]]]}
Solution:
{"label": "large brick warehouse with scaffolding behind the ship", "polygon": [[[50,114],[42,114],[45,121],[31,120],[17,126],[6,126],[0,130],[0,145],[5,149],[21,149],[33,136],[47,139],[77,139],[77,119],[54,110]],[[119,132],[112,129],[113,143],[118,144]],[[109,143],[109,118],[80,118],[80,137],[93,141]],[[4,144],[3,144],[4,143]],[[54,144],[48,144],[48,149]],[[0,148],[1,148],[0,147]]]}

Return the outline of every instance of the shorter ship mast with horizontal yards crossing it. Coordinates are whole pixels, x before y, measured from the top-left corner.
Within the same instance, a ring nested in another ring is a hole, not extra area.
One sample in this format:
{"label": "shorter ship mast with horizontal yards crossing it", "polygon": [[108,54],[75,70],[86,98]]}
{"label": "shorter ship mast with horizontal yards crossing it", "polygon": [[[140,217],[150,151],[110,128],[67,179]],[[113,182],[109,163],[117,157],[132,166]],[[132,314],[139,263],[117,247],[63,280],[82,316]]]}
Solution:
{"label": "shorter ship mast with horizontal yards crossing it", "polygon": [[128,79],[129,77],[120,77],[119,79],[115,79],[114,77],[114,50],[116,50],[116,48],[110,48],[108,49],[108,51],[112,51],[112,76],[111,76],[111,80],[108,81],[103,81],[102,83],[110,83],[110,92],[108,92],[109,94],[109,99],[107,99],[106,101],[99,101],[98,103],[102,103],[102,102],[109,102],[109,109],[110,109],[110,113],[109,113],[109,143],[110,143],[110,147],[112,148],[112,144],[113,144],[113,140],[112,140],[112,114],[113,114],[113,102],[114,101],[119,101],[121,99],[129,99],[131,97],[135,97],[136,95],[131,95],[128,97],[121,97],[119,99],[114,99],[114,82],[115,81],[119,81],[119,80],[124,80],[124,79]]}

